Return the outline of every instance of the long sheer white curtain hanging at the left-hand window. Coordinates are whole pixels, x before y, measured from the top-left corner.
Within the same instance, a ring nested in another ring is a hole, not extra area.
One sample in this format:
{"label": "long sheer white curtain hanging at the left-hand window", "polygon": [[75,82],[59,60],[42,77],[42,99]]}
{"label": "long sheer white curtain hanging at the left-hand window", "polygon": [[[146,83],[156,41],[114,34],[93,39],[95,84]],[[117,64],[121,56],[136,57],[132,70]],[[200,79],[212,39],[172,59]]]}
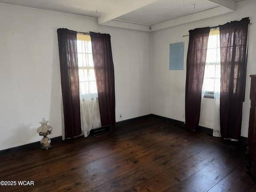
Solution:
{"label": "long sheer white curtain hanging at the left-hand window", "polygon": [[80,116],[82,134],[101,126],[98,93],[92,58],[92,44],[89,35],[77,34],[79,68]]}

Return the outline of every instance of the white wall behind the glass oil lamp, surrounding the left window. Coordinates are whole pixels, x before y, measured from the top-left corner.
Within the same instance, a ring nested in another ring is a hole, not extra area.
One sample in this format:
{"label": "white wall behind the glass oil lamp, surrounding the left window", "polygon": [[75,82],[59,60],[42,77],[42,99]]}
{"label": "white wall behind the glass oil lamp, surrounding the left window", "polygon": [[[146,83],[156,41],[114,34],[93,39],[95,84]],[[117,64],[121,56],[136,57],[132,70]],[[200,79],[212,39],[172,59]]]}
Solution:
{"label": "white wall behind the glass oil lamp, surrounding the left window", "polygon": [[43,117],[53,127],[50,138],[62,135],[58,28],[109,33],[116,120],[119,113],[123,120],[151,113],[150,33],[98,28],[95,18],[2,3],[0,25],[0,150],[39,142]]}

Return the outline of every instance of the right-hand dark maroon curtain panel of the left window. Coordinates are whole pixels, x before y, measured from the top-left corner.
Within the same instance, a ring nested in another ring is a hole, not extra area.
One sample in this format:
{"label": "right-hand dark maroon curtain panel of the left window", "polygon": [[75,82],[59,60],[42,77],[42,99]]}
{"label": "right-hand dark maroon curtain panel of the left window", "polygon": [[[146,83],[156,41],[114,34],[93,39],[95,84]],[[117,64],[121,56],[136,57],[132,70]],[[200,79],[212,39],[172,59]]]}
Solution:
{"label": "right-hand dark maroon curtain panel of the left window", "polygon": [[90,32],[92,55],[98,91],[101,125],[114,126],[115,117],[115,82],[114,64],[109,34]]}

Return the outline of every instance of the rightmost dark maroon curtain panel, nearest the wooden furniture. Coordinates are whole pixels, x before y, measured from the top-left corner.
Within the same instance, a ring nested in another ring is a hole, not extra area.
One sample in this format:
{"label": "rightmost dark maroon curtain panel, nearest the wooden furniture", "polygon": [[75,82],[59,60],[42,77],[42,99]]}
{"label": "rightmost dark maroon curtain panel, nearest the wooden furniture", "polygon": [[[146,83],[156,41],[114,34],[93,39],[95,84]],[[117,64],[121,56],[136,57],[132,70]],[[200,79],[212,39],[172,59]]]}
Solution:
{"label": "rightmost dark maroon curtain panel, nearest the wooden furniture", "polygon": [[240,139],[249,18],[220,25],[220,133]]}

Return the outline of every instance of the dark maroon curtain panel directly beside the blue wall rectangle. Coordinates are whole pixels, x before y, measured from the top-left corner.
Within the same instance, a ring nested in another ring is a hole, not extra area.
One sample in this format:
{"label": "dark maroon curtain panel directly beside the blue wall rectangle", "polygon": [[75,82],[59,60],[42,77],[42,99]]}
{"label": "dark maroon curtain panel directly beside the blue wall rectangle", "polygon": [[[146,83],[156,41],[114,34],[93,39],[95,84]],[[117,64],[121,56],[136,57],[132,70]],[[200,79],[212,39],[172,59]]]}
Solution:
{"label": "dark maroon curtain panel directly beside the blue wall rectangle", "polygon": [[199,124],[209,32],[209,27],[189,31],[185,116],[186,128],[190,130],[197,130]]}

